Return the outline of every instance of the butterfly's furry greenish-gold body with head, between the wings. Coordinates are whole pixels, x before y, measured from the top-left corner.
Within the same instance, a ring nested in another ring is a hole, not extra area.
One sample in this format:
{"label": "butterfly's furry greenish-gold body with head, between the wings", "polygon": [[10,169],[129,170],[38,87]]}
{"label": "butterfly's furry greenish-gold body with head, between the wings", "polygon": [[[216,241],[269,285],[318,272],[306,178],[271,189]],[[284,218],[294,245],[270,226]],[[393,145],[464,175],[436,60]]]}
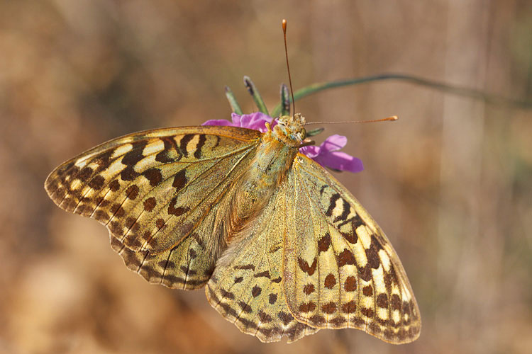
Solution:
{"label": "butterfly's furry greenish-gold body with head, between the wings", "polygon": [[283,116],[273,130],[269,129],[262,135],[250,169],[235,188],[229,222],[230,237],[245,229],[272,198],[306,137],[304,122],[299,114]]}

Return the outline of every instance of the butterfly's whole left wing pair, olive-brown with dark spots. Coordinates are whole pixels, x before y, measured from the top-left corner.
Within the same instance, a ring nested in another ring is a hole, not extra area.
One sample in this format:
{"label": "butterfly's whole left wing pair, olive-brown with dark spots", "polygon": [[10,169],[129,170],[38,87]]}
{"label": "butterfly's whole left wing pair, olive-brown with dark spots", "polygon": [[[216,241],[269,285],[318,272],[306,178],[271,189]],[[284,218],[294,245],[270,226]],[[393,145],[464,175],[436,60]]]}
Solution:
{"label": "butterfly's whole left wing pair, olive-brown with dark spots", "polygon": [[260,136],[238,127],[138,132],[66,161],[45,189],[62,209],[106,225],[128,268],[194,289],[226,247],[218,215]]}

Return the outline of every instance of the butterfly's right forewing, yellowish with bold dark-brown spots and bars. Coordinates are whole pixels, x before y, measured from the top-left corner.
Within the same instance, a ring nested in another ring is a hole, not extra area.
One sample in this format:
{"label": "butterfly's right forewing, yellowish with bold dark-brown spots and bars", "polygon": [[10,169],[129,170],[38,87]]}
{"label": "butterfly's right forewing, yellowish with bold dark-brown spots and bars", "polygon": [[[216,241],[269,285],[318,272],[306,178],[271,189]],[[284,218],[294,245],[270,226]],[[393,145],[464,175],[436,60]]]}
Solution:
{"label": "butterfly's right forewing, yellowish with bold dark-brown spots and bars", "polygon": [[[414,341],[419,308],[397,253],[360,203],[298,154],[287,196],[284,294],[292,315],[316,328],[362,329],[389,343]],[[304,217],[303,217],[304,216]]]}

